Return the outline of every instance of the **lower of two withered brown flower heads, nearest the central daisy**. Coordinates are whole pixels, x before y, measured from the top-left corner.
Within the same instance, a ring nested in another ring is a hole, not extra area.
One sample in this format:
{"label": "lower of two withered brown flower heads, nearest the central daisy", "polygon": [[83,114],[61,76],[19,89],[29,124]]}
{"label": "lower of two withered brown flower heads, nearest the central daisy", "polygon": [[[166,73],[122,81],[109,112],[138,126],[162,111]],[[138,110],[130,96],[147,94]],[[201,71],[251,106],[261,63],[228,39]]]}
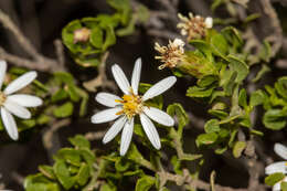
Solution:
{"label": "lower of two withered brown flower heads, nearest the central daisy", "polygon": [[159,66],[159,70],[164,67],[173,68],[184,59],[184,42],[180,39],[169,41],[168,46],[160,46],[157,42],[155,50],[161,55],[156,56],[156,60],[160,60],[163,64]]}

